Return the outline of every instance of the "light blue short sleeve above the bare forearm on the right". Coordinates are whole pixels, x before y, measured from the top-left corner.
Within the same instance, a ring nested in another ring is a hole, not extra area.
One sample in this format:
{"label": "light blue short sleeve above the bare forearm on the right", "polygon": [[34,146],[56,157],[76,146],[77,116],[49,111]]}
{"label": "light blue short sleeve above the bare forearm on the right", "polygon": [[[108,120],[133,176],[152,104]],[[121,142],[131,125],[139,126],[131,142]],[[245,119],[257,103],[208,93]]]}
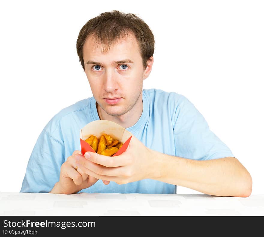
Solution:
{"label": "light blue short sleeve above the bare forearm on the right", "polygon": [[176,107],[173,133],[178,157],[196,160],[234,157],[226,144],[209,129],[202,114],[184,96]]}

